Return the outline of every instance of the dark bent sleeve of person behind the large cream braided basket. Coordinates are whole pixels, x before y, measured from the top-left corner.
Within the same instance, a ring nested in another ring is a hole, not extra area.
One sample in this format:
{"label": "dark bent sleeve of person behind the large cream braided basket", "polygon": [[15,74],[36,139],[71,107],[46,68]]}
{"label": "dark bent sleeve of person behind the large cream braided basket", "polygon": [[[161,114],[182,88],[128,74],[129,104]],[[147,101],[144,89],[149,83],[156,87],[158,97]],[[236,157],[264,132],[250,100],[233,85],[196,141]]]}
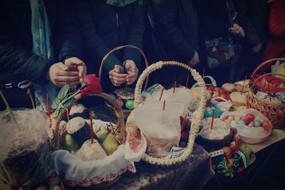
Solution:
{"label": "dark bent sleeve of person behind the large cream braided basket", "polygon": [[152,3],[152,16],[156,35],[167,44],[167,48],[175,51],[182,60],[190,61],[195,49],[187,43],[180,28],[177,27],[177,5],[175,0],[165,0]]}

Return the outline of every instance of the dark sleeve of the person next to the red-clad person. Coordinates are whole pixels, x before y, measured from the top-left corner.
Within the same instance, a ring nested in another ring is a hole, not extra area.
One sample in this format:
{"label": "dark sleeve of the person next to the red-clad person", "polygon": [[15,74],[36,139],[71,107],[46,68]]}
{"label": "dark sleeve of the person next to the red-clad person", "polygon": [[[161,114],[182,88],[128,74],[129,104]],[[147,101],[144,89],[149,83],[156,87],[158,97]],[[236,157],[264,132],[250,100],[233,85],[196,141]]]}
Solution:
{"label": "dark sleeve of the person next to the red-clad person", "polygon": [[257,31],[255,31],[254,26],[252,25],[252,21],[250,21],[248,12],[250,11],[248,9],[248,1],[246,0],[239,0],[236,1],[237,5],[237,11],[238,11],[238,22],[239,25],[242,26],[244,29],[244,40],[249,43],[250,46],[255,47],[260,42],[259,36],[257,35]]}

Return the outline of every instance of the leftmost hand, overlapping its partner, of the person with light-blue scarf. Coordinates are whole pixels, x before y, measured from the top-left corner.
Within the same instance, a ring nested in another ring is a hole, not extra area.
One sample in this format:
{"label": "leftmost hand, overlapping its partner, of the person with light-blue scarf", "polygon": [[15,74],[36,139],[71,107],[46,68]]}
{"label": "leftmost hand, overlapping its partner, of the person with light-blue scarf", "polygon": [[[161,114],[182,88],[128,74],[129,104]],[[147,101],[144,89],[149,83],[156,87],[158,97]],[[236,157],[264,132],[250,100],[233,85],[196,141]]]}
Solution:
{"label": "leftmost hand, overlapping its partner, of the person with light-blue scarf", "polygon": [[58,87],[68,84],[70,88],[76,88],[76,85],[80,83],[78,71],[68,70],[68,67],[63,63],[51,65],[46,77]]}

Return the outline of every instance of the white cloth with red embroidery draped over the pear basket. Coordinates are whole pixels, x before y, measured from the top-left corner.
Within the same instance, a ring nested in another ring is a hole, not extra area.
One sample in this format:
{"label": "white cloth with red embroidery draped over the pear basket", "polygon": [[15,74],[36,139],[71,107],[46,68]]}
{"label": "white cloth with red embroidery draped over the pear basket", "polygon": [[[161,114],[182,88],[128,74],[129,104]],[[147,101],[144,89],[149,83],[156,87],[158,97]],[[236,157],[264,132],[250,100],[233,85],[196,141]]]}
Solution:
{"label": "white cloth with red embroidery draped over the pear basket", "polygon": [[116,181],[123,173],[135,173],[133,162],[125,159],[125,145],[120,145],[110,156],[101,160],[83,162],[66,150],[53,152],[53,164],[56,174],[69,186],[100,185]]}

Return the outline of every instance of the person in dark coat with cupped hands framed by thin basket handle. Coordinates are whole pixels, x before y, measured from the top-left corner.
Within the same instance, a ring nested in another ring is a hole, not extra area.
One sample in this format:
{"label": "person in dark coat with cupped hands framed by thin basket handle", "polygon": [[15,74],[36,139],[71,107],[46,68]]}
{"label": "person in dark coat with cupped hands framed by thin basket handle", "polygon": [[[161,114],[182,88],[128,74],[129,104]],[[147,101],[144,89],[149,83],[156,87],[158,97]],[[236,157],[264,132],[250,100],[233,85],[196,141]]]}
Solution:
{"label": "person in dark coat with cupped hands framed by thin basket handle", "polygon": [[[74,4],[88,73],[98,73],[101,60],[113,48],[127,44],[142,48],[144,28],[138,1],[83,0]],[[134,84],[141,64],[137,50],[124,48],[111,54],[103,65],[103,90],[110,92],[124,83]]]}

